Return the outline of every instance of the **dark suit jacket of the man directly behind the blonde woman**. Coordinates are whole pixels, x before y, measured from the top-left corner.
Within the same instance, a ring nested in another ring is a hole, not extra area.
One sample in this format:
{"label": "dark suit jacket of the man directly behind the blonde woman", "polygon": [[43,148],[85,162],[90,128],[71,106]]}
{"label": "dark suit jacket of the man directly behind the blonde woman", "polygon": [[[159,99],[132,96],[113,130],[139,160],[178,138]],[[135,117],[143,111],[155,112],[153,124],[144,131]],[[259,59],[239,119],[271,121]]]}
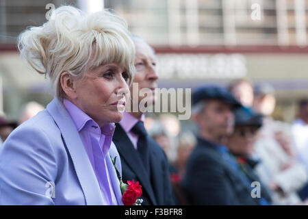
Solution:
{"label": "dark suit jacket of the man directly behind the blonde woman", "polygon": [[138,151],[120,124],[116,124],[113,142],[116,144],[122,164],[123,182],[135,180],[142,185],[142,205],[173,205],[172,189],[169,181],[168,160],[162,148],[149,137],[151,179]]}

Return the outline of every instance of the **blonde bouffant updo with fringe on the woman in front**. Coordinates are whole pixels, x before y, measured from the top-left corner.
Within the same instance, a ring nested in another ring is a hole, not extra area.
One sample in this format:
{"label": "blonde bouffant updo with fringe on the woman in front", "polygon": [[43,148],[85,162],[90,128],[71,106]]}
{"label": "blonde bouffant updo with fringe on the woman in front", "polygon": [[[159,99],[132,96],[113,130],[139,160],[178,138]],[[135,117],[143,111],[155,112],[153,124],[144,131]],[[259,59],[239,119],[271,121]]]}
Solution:
{"label": "blonde bouffant updo with fringe on the woman in front", "polygon": [[117,63],[127,70],[129,85],[135,72],[135,46],[127,23],[107,10],[84,14],[73,6],[57,8],[49,21],[18,37],[18,49],[34,70],[49,77],[53,94],[60,99],[64,71],[81,78],[87,70]]}

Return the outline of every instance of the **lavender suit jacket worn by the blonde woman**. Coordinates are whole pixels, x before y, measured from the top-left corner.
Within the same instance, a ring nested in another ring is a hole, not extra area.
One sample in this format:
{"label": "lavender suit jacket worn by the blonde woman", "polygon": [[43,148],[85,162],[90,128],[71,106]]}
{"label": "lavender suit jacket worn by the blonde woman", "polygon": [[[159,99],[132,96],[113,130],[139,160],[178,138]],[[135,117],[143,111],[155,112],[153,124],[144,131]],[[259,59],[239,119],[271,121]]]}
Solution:
{"label": "lavender suit jacket worn by the blonde woman", "polygon": [[[120,156],[112,143],[106,156],[114,192],[123,205],[110,159]],[[102,194],[73,120],[55,98],[47,109],[17,127],[0,149],[0,205],[102,205]]]}

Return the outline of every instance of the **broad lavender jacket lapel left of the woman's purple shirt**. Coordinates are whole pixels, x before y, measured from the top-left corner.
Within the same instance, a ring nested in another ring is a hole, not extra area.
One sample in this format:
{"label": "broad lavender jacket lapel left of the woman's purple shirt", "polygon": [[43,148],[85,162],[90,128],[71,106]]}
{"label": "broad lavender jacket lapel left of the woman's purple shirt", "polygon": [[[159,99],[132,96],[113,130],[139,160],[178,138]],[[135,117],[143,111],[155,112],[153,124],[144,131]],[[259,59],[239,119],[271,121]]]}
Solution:
{"label": "broad lavender jacket lapel left of the woman's purple shirt", "polygon": [[73,123],[64,105],[57,98],[53,99],[47,105],[47,110],[62,133],[64,144],[73,161],[79,183],[84,192],[86,205],[102,205],[103,198],[99,183],[88,159],[84,144],[81,142],[75,123]]}

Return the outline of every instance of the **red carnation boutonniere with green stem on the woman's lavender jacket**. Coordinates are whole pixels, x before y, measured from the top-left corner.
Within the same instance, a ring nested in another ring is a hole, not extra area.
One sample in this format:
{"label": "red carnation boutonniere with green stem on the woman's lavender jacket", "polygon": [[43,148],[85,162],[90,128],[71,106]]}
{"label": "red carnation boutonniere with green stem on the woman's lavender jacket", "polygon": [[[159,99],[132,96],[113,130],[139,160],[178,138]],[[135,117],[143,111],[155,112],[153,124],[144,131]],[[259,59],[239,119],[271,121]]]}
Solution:
{"label": "red carnation boutonniere with green stem on the woman's lavender jacket", "polygon": [[[112,159],[112,157],[110,156]],[[114,168],[116,169],[116,175],[118,175],[118,180],[120,181],[120,189],[122,192],[122,201],[124,205],[141,205],[143,202],[142,198],[140,196],[142,195],[141,185],[139,185],[139,182],[133,180],[133,181],[127,181],[128,185],[126,183],[123,183],[122,177],[120,176],[120,172],[118,172],[118,168],[116,168],[116,157],[112,159],[112,164],[114,164]]]}

